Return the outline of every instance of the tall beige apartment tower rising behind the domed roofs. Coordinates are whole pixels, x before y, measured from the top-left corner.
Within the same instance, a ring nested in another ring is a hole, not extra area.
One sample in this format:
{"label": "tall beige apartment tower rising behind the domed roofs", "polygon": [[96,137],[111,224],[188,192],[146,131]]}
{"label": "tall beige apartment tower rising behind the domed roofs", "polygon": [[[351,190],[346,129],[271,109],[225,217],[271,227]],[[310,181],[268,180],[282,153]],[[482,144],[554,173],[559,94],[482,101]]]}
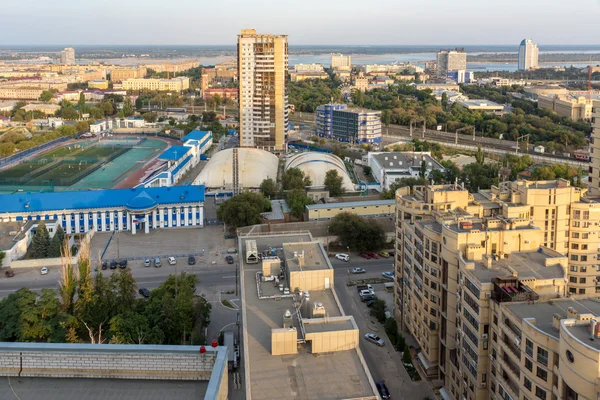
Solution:
{"label": "tall beige apartment tower rising behind the domed roofs", "polygon": [[287,35],[238,35],[240,146],[285,149],[288,133]]}

